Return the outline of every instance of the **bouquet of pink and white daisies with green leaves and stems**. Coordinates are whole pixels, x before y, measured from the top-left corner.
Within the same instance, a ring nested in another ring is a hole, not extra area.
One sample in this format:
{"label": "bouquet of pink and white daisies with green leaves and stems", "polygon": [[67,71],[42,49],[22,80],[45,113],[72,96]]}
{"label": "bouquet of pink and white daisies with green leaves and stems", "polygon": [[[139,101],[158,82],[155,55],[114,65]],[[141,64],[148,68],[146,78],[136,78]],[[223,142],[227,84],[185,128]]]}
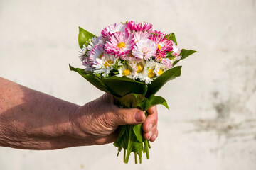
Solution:
{"label": "bouquet of pink and white daisies with green leaves and stems", "polygon": [[[123,108],[139,108],[147,115],[151,106],[166,100],[155,96],[167,81],[181,75],[177,62],[194,50],[177,47],[174,33],[165,34],[152,29],[151,23],[114,23],[104,28],[100,36],[79,28],[80,60],[85,68],[78,72],[97,89],[112,94]],[[124,149],[124,162],[134,152],[142,163],[142,152],[149,159],[149,141],[142,135],[142,124],[122,125],[114,142],[118,154]],[[118,156],[117,154],[117,156]]]}

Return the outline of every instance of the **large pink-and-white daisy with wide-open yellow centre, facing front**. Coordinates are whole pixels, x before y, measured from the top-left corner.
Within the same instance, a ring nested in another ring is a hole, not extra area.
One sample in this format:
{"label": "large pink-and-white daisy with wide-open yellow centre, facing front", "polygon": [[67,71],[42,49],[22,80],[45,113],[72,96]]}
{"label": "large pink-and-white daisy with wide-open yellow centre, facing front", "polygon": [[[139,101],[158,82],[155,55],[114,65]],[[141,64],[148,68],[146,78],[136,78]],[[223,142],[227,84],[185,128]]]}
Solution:
{"label": "large pink-and-white daisy with wide-open yellow centre, facing front", "polygon": [[114,33],[105,44],[105,50],[109,54],[126,55],[134,46],[133,36],[127,32]]}

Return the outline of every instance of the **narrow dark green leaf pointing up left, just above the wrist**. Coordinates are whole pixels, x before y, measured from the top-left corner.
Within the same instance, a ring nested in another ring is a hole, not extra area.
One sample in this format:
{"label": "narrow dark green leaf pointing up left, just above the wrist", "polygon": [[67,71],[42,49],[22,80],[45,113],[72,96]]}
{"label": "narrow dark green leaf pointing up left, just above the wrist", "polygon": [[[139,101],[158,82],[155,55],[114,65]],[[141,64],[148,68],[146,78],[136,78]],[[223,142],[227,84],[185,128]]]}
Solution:
{"label": "narrow dark green leaf pointing up left, just above the wrist", "polygon": [[97,87],[97,89],[110,93],[110,91],[107,89],[105,84],[101,81],[101,79],[98,77],[95,77],[95,75],[92,74],[91,72],[85,72],[84,69],[74,68],[71,65],[69,65],[69,67],[70,67],[70,70],[78,72],[82,77],[87,79],[87,81],[89,81],[92,85]]}

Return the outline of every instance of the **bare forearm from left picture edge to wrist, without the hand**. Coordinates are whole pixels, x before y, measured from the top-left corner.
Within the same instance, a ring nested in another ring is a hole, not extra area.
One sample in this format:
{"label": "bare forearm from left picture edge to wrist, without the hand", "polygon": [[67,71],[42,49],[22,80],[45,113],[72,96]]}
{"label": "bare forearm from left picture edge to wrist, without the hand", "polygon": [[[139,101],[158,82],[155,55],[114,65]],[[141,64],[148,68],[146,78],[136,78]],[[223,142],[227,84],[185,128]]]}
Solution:
{"label": "bare forearm from left picture edge to wrist, without the hand", "polygon": [[21,149],[59,149],[73,140],[70,114],[80,106],[0,77],[0,145]]}

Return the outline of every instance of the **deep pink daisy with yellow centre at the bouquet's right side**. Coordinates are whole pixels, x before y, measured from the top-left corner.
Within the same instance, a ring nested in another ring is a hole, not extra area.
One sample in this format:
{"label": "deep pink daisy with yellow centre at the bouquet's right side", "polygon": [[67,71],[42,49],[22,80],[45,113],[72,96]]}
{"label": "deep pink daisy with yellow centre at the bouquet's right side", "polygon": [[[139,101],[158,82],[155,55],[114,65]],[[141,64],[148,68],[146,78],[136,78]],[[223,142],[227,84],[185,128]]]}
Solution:
{"label": "deep pink daisy with yellow centre at the bouquet's right side", "polygon": [[171,52],[173,50],[172,46],[174,45],[174,42],[162,37],[160,34],[153,34],[149,39],[156,43],[156,52],[158,52],[161,57],[165,57],[166,52]]}

